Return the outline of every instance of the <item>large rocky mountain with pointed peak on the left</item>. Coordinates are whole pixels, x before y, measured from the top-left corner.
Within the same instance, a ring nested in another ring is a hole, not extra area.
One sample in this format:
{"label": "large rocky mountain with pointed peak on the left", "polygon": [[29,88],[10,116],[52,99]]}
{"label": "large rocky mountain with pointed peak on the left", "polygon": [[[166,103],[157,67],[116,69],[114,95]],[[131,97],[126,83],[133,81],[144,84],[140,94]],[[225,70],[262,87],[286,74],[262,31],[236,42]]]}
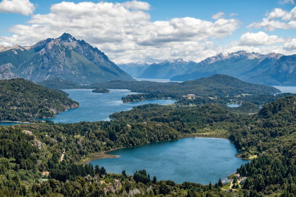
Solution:
{"label": "large rocky mountain with pointed peak on the left", "polygon": [[34,82],[60,78],[79,84],[134,80],[97,47],[64,33],[33,46],[0,51],[0,79],[21,77]]}

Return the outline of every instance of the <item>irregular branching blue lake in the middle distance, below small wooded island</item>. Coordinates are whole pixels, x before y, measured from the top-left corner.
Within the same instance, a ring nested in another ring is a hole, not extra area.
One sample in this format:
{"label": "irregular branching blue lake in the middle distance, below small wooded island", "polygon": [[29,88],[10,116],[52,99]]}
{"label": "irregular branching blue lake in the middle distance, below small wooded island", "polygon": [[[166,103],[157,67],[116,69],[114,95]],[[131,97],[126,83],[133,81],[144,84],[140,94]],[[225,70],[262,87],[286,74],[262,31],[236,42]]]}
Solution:
{"label": "irregular branching blue lake in the middle distance, below small wooded island", "polygon": [[69,98],[77,101],[80,107],[69,109],[68,111],[57,114],[55,118],[49,118],[49,120],[52,120],[55,123],[79,123],[80,121],[95,122],[99,120],[110,120],[110,114],[130,110],[134,106],[148,103],[165,105],[175,103],[176,101],[170,99],[158,99],[134,103],[123,103],[121,100],[122,96],[138,93],[121,89],[110,89],[110,92],[105,94],[94,93],[90,89],[68,89],[64,91],[69,94]]}

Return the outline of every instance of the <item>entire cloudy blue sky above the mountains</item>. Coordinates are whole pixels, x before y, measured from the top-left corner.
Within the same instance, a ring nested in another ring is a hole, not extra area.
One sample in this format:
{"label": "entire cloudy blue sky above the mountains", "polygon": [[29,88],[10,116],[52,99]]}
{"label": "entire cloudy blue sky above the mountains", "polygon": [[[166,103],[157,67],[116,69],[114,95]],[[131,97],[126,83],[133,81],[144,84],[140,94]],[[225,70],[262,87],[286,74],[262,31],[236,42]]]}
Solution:
{"label": "entire cloudy blue sky above the mountains", "polygon": [[64,32],[115,63],[199,62],[223,51],[296,54],[294,0],[0,0],[0,45]]}

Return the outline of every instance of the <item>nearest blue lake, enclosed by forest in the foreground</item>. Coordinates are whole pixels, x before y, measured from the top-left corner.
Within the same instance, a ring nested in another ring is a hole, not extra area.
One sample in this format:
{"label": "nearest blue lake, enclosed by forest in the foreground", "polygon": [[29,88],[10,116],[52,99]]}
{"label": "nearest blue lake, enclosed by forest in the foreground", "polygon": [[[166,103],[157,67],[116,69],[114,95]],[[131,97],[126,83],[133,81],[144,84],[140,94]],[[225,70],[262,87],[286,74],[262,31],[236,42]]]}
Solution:
{"label": "nearest blue lake, enclosed by forest in the foreground", "polygon": [[89,163],[104,166],[107,172],[121,174],[125,170],[133,175],[136,170],[146,169],[151,178],[155,175],[158,180],[208,184],[226,179],[248,162],[236,158],[237,153],[240,152],[228,139],[182,138],[117,149],[107,154],[120,157]]}

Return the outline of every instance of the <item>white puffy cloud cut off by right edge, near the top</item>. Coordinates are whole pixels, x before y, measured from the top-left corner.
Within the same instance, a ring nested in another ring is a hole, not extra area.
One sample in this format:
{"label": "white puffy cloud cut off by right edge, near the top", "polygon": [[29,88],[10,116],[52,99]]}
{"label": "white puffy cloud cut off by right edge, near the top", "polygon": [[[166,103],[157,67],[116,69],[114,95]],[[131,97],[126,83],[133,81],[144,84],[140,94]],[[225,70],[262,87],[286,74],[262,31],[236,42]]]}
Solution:
{"label": "white puffy cloud cut off by right edge, near the top", "polygon": [[290,12],[275,8],[270,13],[267,13],[266,18],[263,18],[261,22],[253,22],[247,27],[263,27],[266,31],[294,29],[296,28],[296,6]]}

